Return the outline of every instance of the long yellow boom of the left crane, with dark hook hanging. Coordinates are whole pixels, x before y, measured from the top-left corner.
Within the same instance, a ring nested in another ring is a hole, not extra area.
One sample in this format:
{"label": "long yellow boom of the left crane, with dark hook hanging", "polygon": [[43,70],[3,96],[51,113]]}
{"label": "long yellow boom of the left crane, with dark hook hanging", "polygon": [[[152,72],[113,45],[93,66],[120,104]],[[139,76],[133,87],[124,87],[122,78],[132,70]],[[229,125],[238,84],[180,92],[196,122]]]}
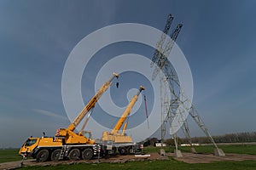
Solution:
{"label": "long yellow boom of the left crane, with dark hook hanging", "polygon": [[113,72],[113,77],[111,77],[107,82],[105,82],[102,87],[97,91],[97,93],[90,99],[89,103],[84,106],[84,109],[79,113],[79,115],[74,119],[74,121],[67,127],[67,130],[73,131],[79,123],[83,120],[84,116],[95,107],[98,99],[101,98],[102,94],[109,88],[114,77],[119,77],[119,75]]}

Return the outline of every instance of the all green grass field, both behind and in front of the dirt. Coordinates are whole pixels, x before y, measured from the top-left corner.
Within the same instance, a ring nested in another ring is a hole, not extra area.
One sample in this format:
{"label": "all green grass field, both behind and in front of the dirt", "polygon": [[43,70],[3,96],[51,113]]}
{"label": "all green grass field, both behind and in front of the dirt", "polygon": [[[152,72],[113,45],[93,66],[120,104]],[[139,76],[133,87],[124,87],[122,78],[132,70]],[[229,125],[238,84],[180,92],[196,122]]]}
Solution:
{"label": "all green grass field, both behind and in front of the dirt", "polygon": [[[251,154],[256,155],[256,145],[223,145],[219,146],[225,153]],[[213,146],[195,146],[195,150],[199,153],[212,153]],[[145,147],[144,153],[159,152],[160,148]],[[173,147],[166,147],[166,152],[173,152]],[[180,147],[179,150],[189,152],[189,147]],[[18,150],[0,150],[0,162],[5,161],[19,161]],[[128,161],[126,163],[100,163],[100,164],[73,164],[73,165],[59,165],[55,167],[22,167],[21,170],[26,169],[256,169],[256,161],[216,161],[212,163],[188,164],[182,161],[175,161],[170,157],[169,161]]]}

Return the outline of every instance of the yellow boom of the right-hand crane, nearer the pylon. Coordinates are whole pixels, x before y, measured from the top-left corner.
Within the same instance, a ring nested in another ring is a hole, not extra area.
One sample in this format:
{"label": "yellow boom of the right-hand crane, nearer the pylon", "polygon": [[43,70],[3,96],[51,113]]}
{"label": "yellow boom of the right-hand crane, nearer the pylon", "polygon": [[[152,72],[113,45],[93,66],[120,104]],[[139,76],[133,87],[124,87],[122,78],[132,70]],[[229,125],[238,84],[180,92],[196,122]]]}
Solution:
{"label": "yellow boom of the right-hand crane, nearer the pylon", "polygon": [[143,86],[140,87],[139,91],[137,92],[137,94],[131,99],[131,102],[129,103],[129,105],[127,106],[127,108],[125,109],[123,115],[119,118],[119,121],[116,123],[115,127],[113,127],[112,133],[118,133],[119,129],[122,127],[122,125],[125,122],[125,119],[127,116],[130,115],[131,113],[131,108],[133,107],[133,105],[136,103],[137,101],[137,97],[138,95],[144,90],[145,88]]}

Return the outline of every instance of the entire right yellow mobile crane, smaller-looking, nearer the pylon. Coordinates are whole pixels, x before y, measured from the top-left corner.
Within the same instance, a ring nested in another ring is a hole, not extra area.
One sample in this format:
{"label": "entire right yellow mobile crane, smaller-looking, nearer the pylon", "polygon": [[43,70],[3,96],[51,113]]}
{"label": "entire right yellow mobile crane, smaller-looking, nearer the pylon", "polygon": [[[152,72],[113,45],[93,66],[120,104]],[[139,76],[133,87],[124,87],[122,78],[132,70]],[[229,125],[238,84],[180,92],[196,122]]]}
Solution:
{"label": "entire right yellow mobile crane, smaller-looking, nearer the pylon", "polygon": [[[127,127],[127,122],[125,122],[125,119],[130,115],[132,107],[135,105],[139,94],[144,89],[145,88],[143,86],[140,87],[137,94],[131,99],[131,102],[125,109],[123,115],[119,118],[119,121],[113,127],[113,130],[111,132],[102,133],[102,143],[103,145],[107,146],[106,150],[108,150],[108,153],[115,153],[116,150],[119,150],[120,155],[125,155],[132,154],[136,149],[138,149],[137,144],[132,142],[131,137],[125,134],[125,129]],[[122,132],[119,133],[119,130],[123,125],[124,127]]]}

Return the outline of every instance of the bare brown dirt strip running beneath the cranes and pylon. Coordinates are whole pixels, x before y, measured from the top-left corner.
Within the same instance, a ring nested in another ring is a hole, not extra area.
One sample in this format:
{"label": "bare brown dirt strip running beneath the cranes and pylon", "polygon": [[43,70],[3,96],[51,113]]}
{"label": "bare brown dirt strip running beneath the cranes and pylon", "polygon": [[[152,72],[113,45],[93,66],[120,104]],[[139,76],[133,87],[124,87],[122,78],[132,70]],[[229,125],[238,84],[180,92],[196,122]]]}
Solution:
{"label": "bare brown dirt strip running beneath the cranes and pylon", "polygon": [[[158,153],[147,154],[150,156],[108,156],[106,158],[101,158],[100,162],[108,163],[125,163],[126,161],[145,161],[145,160],[168,160],[166,156],[160,156]],[[183,153],[183,157],[174,157],[173,153],[168,153],[167,156],[172,156],[177,161],[183,161],[186,163],[209,163],[212,161],[245,161],[254,160],[256,161],[256,156],[245,155],[245,154],[226,154],[226,156],[213,156],[212,154],[193,154],[193,153]],[[0,169],[15,169],[20,167],[21,161],[9,161],[0,163]],[[90,161],[46,161],[38,162],[36,160],[25,160],[24,166],[56,166],[60,164],[76,164],[76,163],[98,163],[97,159]]]}

